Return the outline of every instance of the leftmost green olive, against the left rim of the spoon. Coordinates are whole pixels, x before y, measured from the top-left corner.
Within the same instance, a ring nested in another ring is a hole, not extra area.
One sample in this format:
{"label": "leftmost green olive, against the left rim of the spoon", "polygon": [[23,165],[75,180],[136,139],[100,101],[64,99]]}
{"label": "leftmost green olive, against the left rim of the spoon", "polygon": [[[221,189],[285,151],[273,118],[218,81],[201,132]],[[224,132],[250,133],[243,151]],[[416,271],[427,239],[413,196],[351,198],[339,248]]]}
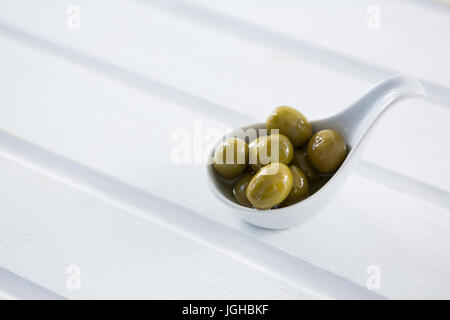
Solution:
{"label": "leftmost green olive, against the left rim of the spoon", "polygon": [[216,148],[213,167],[220,176],[236,178],[247,169],[247,164],[248,145],[244,140],[229,138]]}

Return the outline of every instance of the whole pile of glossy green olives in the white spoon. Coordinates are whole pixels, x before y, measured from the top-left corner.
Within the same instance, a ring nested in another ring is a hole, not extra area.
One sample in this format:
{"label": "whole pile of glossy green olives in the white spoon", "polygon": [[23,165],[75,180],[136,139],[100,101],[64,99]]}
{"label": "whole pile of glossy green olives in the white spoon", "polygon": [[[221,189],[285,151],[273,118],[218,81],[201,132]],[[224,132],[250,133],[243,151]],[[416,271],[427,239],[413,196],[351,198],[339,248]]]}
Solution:
{"label": "whole pile of glossy green olives in the white spoon", "polygon": [[267,135],[248,144],[238,137],[214,153],[217,174],[233,185],[237,203],[260,210],[290,206],[320,189],[347,156],[335,130],[313,133],[298,110],[280,106],[267,118]]}

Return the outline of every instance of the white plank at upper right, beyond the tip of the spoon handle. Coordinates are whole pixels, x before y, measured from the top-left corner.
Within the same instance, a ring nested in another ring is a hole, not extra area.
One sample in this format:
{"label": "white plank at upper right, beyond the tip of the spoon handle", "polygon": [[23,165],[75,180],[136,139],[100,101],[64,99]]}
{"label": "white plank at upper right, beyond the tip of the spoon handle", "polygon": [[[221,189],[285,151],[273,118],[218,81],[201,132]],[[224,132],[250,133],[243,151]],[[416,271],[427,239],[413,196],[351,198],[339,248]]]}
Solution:
{"label": "white plank at upper right, beyond the tip of the spoon handle", "polygon": [[450,46],[442,42],[450,36],[449,6],[442,10],[418,1],[388,0],[141,3],[250,41],[283,47],[306,60],[355,76],[379,79],[392,73],[413,74],[425,83],[434,99],[446,105],[450,101]]}

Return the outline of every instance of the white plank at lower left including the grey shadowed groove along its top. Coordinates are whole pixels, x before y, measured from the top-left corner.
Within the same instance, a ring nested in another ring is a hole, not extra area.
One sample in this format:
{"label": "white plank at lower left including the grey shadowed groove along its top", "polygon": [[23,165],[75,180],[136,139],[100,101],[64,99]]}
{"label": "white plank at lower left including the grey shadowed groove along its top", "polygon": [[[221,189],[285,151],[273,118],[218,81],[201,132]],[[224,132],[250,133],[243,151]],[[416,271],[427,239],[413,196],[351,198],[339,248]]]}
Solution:
{"label": "white plank at lower left including the grey shadowed groove along its top", "polygon": [[0,265],[63,297],[381,298],[15,137],[0,144]]}

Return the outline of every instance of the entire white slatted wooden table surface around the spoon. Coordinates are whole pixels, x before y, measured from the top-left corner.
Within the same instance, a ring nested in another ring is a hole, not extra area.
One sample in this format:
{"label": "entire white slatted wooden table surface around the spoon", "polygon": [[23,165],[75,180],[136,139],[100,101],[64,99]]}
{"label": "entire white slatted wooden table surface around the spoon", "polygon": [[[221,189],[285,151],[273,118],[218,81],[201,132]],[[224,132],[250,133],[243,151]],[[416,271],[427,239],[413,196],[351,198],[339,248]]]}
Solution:
{"label": "entire white slatted wooden table surface around the spoon", "polygon": [[[0,298],[450,298],[449,39],[426,0],[2,0]],[[171,161],[174,130],[320,118],[396,73],[427,97],[307,224],[243,223]]]}

